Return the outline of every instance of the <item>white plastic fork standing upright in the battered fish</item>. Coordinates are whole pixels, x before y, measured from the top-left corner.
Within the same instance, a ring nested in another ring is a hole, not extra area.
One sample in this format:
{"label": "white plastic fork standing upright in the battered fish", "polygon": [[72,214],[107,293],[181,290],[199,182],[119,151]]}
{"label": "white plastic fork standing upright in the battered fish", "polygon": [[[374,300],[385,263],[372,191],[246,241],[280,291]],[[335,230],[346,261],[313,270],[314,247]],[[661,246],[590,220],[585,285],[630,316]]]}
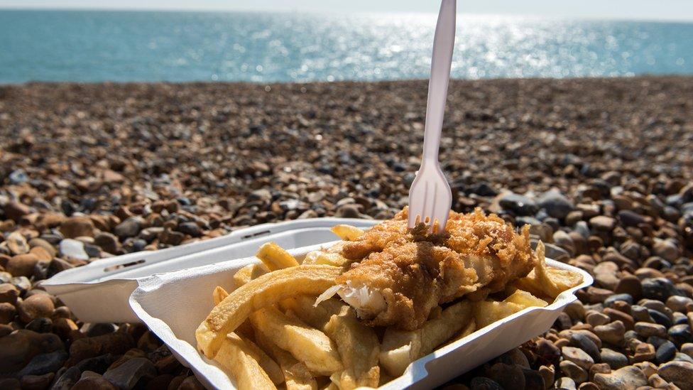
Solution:
{"label": "white plastic fork standing upright in the battered fish", "polygon": [[424,222],[430,224],[429,232],[433,232],[435,226],[439,232],[444,231],[452,207],[452,191],[440,169],[438,148],[452,65],[456,8],[456,0],[442,0],[440,4],[433,38],[431,79],[428,82],[423,157],[409,189],[409,227]]}

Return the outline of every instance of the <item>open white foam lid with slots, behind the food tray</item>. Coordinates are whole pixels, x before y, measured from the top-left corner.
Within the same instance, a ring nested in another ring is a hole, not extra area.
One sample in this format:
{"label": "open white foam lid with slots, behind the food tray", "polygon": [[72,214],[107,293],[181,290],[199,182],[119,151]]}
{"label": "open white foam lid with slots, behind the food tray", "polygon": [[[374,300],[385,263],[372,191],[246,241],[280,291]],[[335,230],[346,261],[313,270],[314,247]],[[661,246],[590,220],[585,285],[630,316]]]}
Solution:
{"label": "open white foam lid with slots, behind the food tray", "polygon": [[58,296],[77,318],[87,323],[136,323],[128,299],[142,278],[219,261],[252,256],[261,244],[276,242],[286,249],[334,240],[336,224],[370,227],[376,220],[309,218],[259,224],[223,237],[158,251],[141,251],[93,261],[62,271],[43,281],[48,293]]}

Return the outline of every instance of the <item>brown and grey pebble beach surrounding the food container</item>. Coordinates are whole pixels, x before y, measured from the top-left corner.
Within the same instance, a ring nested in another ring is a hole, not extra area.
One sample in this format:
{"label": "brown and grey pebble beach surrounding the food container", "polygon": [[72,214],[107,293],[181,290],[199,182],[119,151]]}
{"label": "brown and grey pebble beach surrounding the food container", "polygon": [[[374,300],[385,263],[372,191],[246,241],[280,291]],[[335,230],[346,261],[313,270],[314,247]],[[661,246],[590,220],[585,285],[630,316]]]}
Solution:
{"label": "brown and grey pebble beach surrounding the food container", "polygon": [[[447,389],[693,389],[693,77],[454,80],[453,209],[530,224],[594,276],[540,337]],[[0,86],[0,389],[202,389],[141,324],[41,282],[263,222],[386,219],[427,81]]]}

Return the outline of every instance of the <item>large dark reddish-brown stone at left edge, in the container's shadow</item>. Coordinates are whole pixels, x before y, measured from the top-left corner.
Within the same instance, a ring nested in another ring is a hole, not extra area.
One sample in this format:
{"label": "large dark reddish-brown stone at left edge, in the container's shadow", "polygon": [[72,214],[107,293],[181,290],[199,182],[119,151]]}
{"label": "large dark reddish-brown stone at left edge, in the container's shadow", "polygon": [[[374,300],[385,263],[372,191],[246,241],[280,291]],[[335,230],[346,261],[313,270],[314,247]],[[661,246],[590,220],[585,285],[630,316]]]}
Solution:
{"label": "large dark reddish-brown stone at left edge, in the container's shadow", "polygon": [[60,337],[20,329],[0,337],[0,372],[16,372],[37,354],[63,350]]}

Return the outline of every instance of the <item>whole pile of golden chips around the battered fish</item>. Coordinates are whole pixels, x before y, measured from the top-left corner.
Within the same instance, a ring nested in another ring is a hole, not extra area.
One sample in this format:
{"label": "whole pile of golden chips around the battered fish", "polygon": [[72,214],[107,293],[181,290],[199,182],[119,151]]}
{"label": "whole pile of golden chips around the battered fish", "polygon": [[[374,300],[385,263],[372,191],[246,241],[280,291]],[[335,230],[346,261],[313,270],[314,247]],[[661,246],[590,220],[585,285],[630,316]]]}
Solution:
{"label": "whole pile of golden chips around the battered fish", "polygon": [[[364,234],[349,225],[337,225],[332,232],[344,241]],[[262,263],[244,266],[233,276],[236,290],[214,289],[214,308],[195,332],[198,349],[222,364],[241,390],[280,384],[287,390],[378,387],[437,347],[524,308],[544,307],[548,298],[582,282],[578,273],[548,267],[540,242],[535,268],[493,295],[503,293],[503,301],[466,297],[433,308],[417,330],[378,330],[364,325],[339,298],[315,305],[351,264],[341,248],[310,252],[300,265],[277,244],[263,244],[256,255]]]}

